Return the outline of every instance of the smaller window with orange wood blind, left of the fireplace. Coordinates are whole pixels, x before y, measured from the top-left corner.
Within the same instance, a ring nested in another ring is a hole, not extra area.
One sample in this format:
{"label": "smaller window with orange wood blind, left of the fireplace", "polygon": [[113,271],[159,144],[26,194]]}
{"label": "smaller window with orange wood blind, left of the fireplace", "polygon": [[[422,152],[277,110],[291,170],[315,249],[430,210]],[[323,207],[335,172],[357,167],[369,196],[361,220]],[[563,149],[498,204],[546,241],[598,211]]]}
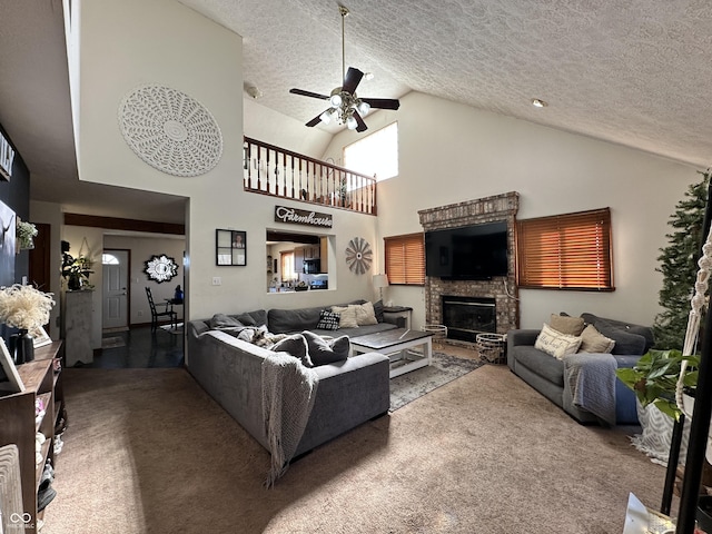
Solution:
{"label": "smaller window with orange wood blind, left of the fireplace", "polygon": [[423,234],[384,237],[388,284],[425,284],[425,245]]}

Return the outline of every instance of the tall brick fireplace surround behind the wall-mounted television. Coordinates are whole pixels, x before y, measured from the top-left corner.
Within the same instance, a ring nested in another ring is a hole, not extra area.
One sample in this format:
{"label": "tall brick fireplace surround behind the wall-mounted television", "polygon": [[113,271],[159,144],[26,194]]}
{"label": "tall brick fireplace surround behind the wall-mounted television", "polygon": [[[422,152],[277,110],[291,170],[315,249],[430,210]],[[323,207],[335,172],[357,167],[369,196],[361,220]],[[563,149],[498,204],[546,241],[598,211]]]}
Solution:
{"label": "tall brick fireplace surround behind the wall-mounted television", "polygon": [[[447,326],[448,338],[474,342],[479,327],[483,328],[479,332],[495,334],[506,334],[512,328],[518,328],[520,306],[514,240],[518,201],[518,194],[512,191],[418,211],[421,225],[425,231],[497,220],[507,222],[510,264],[507,276],[493,277],[488,280],[448,280],[425,277],[425,320],[428,325]],[[445,297],[451,303],[461,304],[459,313],[464,312],[464,317],[457,317],[457,306],[454,308],[455,313],[444,310]],[[472,305],[463,305],[464,301],[475,301],[475,306],[479,303],[481,306],[478,309],[471,308]]]}

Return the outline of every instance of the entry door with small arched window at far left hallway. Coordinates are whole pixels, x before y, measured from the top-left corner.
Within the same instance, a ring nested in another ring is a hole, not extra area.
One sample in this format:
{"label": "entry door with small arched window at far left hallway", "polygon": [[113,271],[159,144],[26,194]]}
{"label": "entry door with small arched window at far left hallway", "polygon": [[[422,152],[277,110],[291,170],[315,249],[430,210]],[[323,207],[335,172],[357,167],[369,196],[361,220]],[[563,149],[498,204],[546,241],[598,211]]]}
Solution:
{"label": "entry door with small arched window at far left hallway", "polygon": [[106,249],[103,258],[101,326],[103,328],[128,328],[129,253],[128,250]]}

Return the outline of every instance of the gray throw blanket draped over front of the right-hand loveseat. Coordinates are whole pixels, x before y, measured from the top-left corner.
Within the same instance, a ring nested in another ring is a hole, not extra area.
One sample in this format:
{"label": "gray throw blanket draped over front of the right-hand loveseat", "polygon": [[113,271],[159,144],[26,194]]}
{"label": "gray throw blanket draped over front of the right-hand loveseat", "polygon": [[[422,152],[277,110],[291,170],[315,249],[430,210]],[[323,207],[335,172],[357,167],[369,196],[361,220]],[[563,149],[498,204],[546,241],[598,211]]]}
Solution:
{"label": "gray throw blanket draped over front of the right-hand loveseat", "polygon": [[577,353],[564,356],[564,390],[576,407],[615,425],[615,369],[610,354]]}

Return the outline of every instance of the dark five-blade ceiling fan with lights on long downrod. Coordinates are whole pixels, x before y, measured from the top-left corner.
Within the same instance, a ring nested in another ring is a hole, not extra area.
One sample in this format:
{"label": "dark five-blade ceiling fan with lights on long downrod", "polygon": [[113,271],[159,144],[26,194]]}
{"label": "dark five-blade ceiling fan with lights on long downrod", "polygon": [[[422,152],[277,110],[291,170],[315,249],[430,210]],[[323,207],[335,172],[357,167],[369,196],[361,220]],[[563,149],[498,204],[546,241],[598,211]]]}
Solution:
{"label": "dark five-blade ceiling fan with lights on long downrod", "polygon": [[344,76],[342,87],[335,88],[329,96],[303,89],[289,89],[289,92],[329,101],[329,108],[307,122],[306,126],[313,127],[319,122],[328,125],[336,121],[337,125],[346,125],[349,130],[366,131],[368,128],[363,118],[368,115],[370,108],[396,110],[400,107],[400,102],[390,98],[359,98],[356,96],[356,88],[364,73],[354,67],[346,70],[344,19],[348,14],[348,9],[339,6],[338,10],[342,13],[342,73]]}

